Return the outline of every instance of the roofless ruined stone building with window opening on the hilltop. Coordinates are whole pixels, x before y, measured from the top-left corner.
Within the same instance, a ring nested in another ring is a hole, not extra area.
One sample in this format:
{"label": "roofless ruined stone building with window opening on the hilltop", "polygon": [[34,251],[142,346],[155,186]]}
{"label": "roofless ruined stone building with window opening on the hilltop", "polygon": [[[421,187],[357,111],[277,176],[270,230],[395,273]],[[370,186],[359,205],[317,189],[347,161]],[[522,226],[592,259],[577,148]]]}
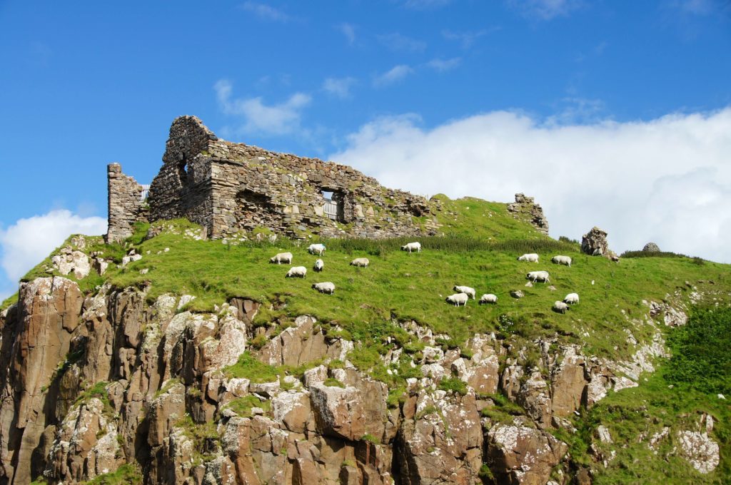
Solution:
{"label": "roofless ruined stone building with window opening on the hilltop", "polygon": [[107,169],[107,240],[124,240],[135,221],[187,218],[209,237],[267,228],[290,237],[391,237],[436,232],[432,203],[381,186],[346,165],[219,139],[198,118],[170,126],[163,165],[144,188]]}

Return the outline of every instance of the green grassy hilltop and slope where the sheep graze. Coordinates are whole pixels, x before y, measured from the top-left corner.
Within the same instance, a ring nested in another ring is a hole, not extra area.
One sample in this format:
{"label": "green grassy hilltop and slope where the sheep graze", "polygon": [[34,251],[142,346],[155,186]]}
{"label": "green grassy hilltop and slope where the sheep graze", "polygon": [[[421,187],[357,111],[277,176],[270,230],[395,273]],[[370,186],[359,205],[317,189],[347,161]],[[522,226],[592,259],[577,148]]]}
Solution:
{"label": "green grassy hilltop and slope where the sheep graze", "polygon": [[[398,389],[403,385],[401,380],[415,371],[400,368],[398,377],[386,372],[379,360],[379,354],[386,349],[385,337],[396,339],[407,352],[416,353],[423,348],[423,343],[393,325],[394,319],[414,319],[448,335],[450,339],[442,342],[445,346],[461,345],[475,332],[496,332],[510,339],[515,344],[513,349],[526,346],[529,353],[537,354],[534,345],[531,348],[537,337],[558,336],[559,343],[578,344],[586,355],[627,359],[632,347],[625,329],[640,342],[648,341],[656,331],[655,326],[643,323],[648,312],[646,302],[676,298],[687,301],[689,294],[698,292],[713,294],[722,308],[728,306],[729,265],[667,253],[656,257],[626,257],[615,263],[580,253],[575,241],[565,238],[557,241],[537,232],[520,215],[509,213],[504,204],[471,198],[450,200],[444,196],[439,200],[442,208],[435,217],[442,224],[443,235],[419,238],[422,253],[400,250],[400,245],[413,238],[325,240],[327,251],[322,256],[325,270],[317,273],[311,269],[317,256],[306,252],[308,244],[318,242],[317,237],[304,241],[279,238],[276,242],[268,242],[266,238],[261,242],[229,240],[224,244],[221,240],[196,240],[194,235],[200,234],[200,228],[187,221],[164,221],[156,225],[163,224],[167,230],[149,240],[144,238],[147,224],[140,224],[135,235],[124,244],[103,245],[100,239],[93,240],[86,251],[104,251],[104,257],[117,264],[131,248],[143,258],[126,267],[110,264],[103,277],[92,272],[79,283],[89,292],[104,282],[119,288],[148,285],[150,301],[165,293],[190,294],[196,299],[186,309],[193,311],[212,311],[215,305],[232,297],[248,297],[262,302],[254,324],[263,326],[284,328],[295,316],[315,316],[327,332],[362,344],[352,351],[349,359],[357,367],[370,370],[374,377],[390,383],[395,389],[394,397],[398,397]],[[414,222],[423,221],[415,218]],[[308,268],[306,278],[284,278],[290,265],[269,263],[270,256],[284,251],[294,254],[292,265]],[[516,260],[528,252],[539,253],[540,262]],[[557,254],[571,256],[572,267],[552,264],[550,258]],[[367,257],[370,266],[365,269],[350,266],[349,261],[356,257]],[[48,275],[48,264],[49,260],[43,261],[24,279]],[[147,271],[143,274],[141,270]],[[551,283],[526,287],[526,273],[534,270],[550,272]],[[335,283],[335,294],[319,294],[311,289],[312,283],[321,281]],[[483,293],[494,293],[498,302],[477,305],[477,300],[469,300],[466,307],[455,308],[444,301],[455,292],[452,290],[455,284],[474,287],[477,299]],[[511,290],[521,290],[525,297],[515,299],[510,296]],[[580,295],[580,303],[566,314],[553,312],[553,302],[571,292]],[[715,337],[705,340],[709,349],[718,351],[729,344],[724,340],[731,334],[729,321],[731,314],[716,323]],[[696,322],[692,328],[700,328],[699,325],[702,327]],[[670,333],[664,327],[662,331]],[[688,352],[686,340],[671,338],[676,356]],[[686,355],[686,364],[688,359],[695,358],[693,355],[701,354],[696,346]],[[596,483],[650,483],[662,473],[675,473],[668,472],[668,467],[676,467],[677,473],[687,469],[678,462],[679,458],[671,459],[668,464],[662,456],[647,451],[645,445],[629,439],[632,433],[641,432],[647,419],[659,419],[675,426],[683,420],[696,419],[701,410],[711,412],[718,421],[716,438],[721,443],[721,457],[730,451],[731,412],[714,394],[728,388],[729,373],[722,372],[722,368],[721,372],[717,368],[710,370],[719,363],[704,361],[705,364],[694,369],[695,373],[702,374],[695,382],[683,380],[677,374],[689,371],[687,365],[683,367],[685,370],[673,371],[679,368],[678,362],[671,359],[661,372],[649,376],[637,389],[610,393],[591,412],[575,419],[579,429],[575,435],[559,437],[572,446],[571,453],[577,462],[589,459],[590,435],[602,422],[608,423],[616,435],[626,438],[629,445],[618,451],[618,460],[607,468],[607,475],[602,479],[606,481]],[[287,372],[257,367],[248,355],[231,372],[245,375],[252,366],[257,373]],[[700,386],[706,378],[712,383]],[[669,385],[673,387],[668,388]],[[708,403],[711,397],[713,404]],[[637,472],[638,469],[642,471]],[[724,458],[719,472],[722,475],[729,472]],[[709,477],[694,479],[699,483],[707,480],[714,483]]]}

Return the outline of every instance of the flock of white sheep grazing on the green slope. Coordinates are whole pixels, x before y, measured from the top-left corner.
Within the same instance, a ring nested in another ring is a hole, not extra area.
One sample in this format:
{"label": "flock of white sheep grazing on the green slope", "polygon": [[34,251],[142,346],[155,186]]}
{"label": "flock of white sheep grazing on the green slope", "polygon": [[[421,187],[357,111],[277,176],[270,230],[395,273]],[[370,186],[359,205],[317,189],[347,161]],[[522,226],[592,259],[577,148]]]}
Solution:
{"label": "flock of white sheep grazing on the green slope", "polygon": [[[412,253],[416,251],[417,253],[421,252],[421,243],[420,242],[409,242],[406,245],[401,246],[401,251],[408,251],[409,253]],[[314,255],[317,254],[317,256],[320,256],[319,259],[315,261],[314,264],[314,270],[316,272],[321,272],[323,269],[325,269],[325,261],[322,261],[322,253],[325,253],[325,245],[324,244],[311,244],[307,248],[307,252]],[[518,261],[529,261],[533,263],[538,262],[538,255],[536,253],[528,253],[523,254],[523,256],[520,256],[518,258]],[[271,263],[276,264],[292,264],[292,253],[279,253],[275,256],[272,256],[269,261]],[[571,267],[571,258],[569,256],[553,256],[551,258],[551,261],[554,264],[564,264],[565,266]],[[368,258],[356,258],[350,261],[351,266],[355,267],[363,267],[367,268],[370,261],[368,261]],[[285,275],[285,278],[304,278],[307,275],[307,268],[304,266],[293,266],[289,268],[289,271],[287,271],[287,275]],[[530,280],[532,283],[537,283],[539,281],[542,281],[543,283],[550,283],[550,277],[548,274],[548,271],[531,271],[526,275],[526,278]],[[320,293],[327,293],[327,294],[333,294],[335,293],[335,284],[330,281],[325,281],[323,283],[314,283],[312,285],[313,289],[316,289]],[[467,301],[470,297],[472,299],[475,299],[475,295],[477,292],[474,288],[471,288],[469,286],[460,286],[455,285],[454,287],[455,291],[458,291],[458,293],[452,294],[449,297],[446,298],[447,302],[452,303],[455,305],[455,307],[458,307],[460,305],[466,306]],[[492,293],[485,293],[480,297],[480,305],[485,305],[488,303],[496,304],[498,302],[498,297]],[[569,310],[569,305],[574,305],[579,302],[579,295],[576,293],[569,293],[566,295],[566,297],[561,300],[556,300],[556,302],[553,303],[553,310],[558,313],[566,313],[566,310]]]}

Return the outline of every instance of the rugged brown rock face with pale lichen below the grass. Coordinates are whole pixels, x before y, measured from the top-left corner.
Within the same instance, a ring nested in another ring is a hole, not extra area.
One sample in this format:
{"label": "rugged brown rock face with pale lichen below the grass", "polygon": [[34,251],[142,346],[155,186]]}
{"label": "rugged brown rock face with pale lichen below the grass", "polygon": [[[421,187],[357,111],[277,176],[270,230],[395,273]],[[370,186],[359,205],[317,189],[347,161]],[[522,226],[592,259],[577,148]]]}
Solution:
{"label": "rugged brown rock face with pale lichen below the grass", "polygon": [[[188,299],[110,286],[83,299],[66,278],[24,283],[0,314],[0,483],[77,484],[124,463],[145,484],[590,483],[550,431],[570,432],[569,416],[636,386],[664,355],[658,340],[637,345],[632,362],[606,362],[554,339],[536,340],[529,362],[504,337],[475,334],[460,349],[393,321],[421,348],[385,345],[383,364],[413,375],[394,396],[349,362],[357,343],[327,337],[311,316],[254,326],[257,302],[191,313]],[[245,352],[262,368],[305,370],[235,375]],[[501,399],[518,416],[496,412]],[[678,442],[708,473],[719,447],[704,422]],[[598,437],[612,441],[607,429]]]}

